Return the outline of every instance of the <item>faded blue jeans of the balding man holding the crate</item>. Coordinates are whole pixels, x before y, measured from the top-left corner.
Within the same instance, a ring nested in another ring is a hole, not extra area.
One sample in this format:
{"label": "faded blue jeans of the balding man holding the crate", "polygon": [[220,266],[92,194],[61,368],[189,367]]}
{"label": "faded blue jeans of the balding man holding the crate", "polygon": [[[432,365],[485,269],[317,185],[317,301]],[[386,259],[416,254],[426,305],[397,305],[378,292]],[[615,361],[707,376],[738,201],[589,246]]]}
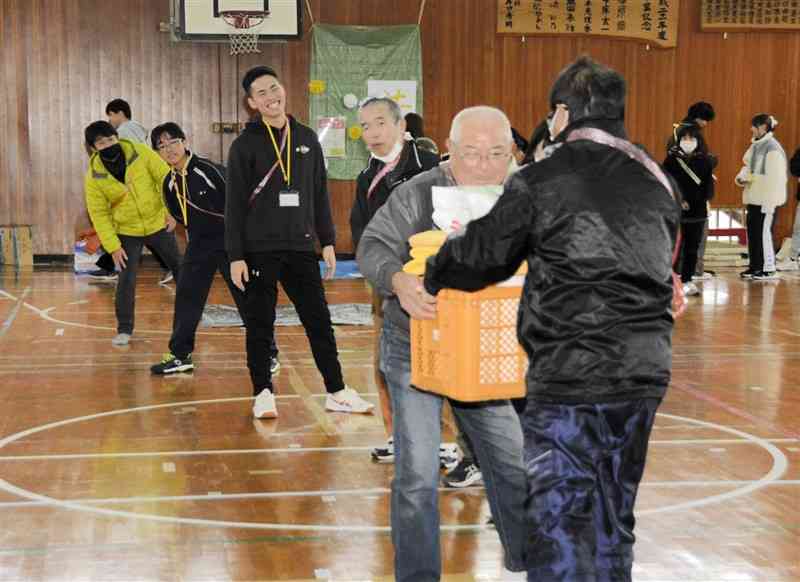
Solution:
{"label": "faded blue jeans of the balding man holding the crate", "polygon": [[[388,320],[383,322],[380,364],[394,420],[391,523],[395,578],[397,582],[436,582],[442,573],[438,487],[445,399],[411,386],[408,332]],[[523,571],[526,484],[519,417],[508,401],[450,404],[480,462],[489,507],[505,550],[505,566]]]}

